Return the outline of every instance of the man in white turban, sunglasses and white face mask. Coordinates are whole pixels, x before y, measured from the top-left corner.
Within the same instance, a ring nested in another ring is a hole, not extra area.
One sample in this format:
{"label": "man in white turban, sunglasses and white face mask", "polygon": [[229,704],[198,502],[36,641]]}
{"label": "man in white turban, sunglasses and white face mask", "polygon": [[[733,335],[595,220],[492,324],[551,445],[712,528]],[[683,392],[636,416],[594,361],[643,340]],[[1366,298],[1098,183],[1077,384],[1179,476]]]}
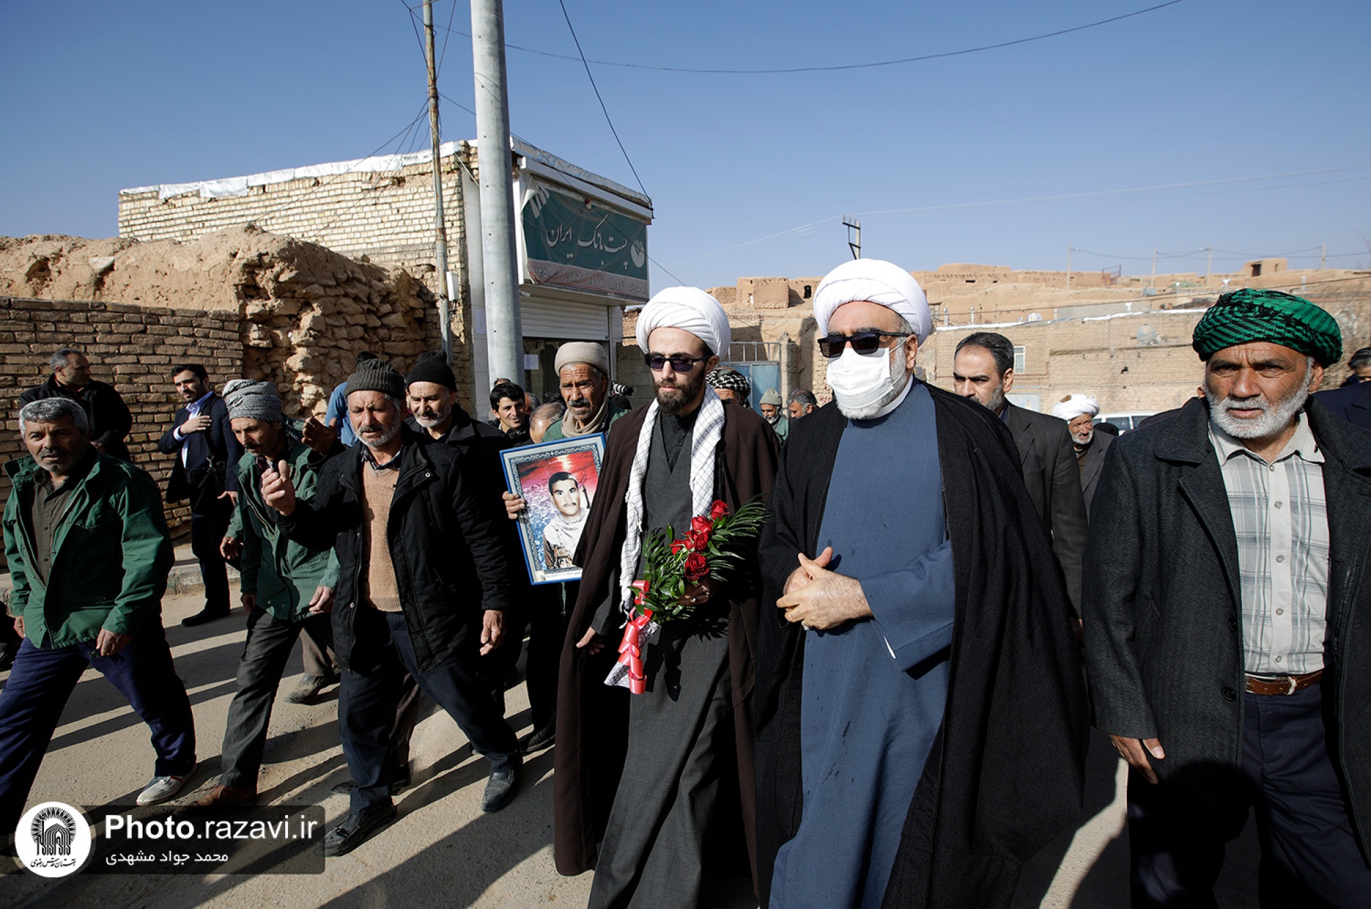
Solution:
{"label": "man in white turban, sunglasses and white face mask", "polygon": [[762,905],[1005,906],[1080,809],[1052,544],[1005,425],[913,377],[908,271],[839,266],[814,319],[835,403],[791,429],[761,540]]}

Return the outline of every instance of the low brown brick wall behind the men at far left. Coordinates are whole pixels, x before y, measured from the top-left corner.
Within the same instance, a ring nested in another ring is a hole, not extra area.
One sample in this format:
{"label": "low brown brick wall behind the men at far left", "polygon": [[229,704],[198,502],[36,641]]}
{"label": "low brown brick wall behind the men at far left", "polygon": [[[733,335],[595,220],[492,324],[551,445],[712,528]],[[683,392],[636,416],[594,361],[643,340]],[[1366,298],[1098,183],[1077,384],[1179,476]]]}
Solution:
{"label": "low brown brick wall behind the men at far left", "polygon": [[[119,389],[133,411],[128,441],[134,463],[162,489],[173,461],[158,451],[158,439],[182,403],[171,387],[171,366],[203,363],[218,388],[243,374],[236,313],[0,296],[0,400],[5,406],[0,462],[27,457],[19,439],[18,398],[47,380],[48,358],[59,347],[84,350],[95,378]],[[0,502],[8,496],[10,481],[0,478]],[[189,521],[184,502],[167,506],[167,521],[173,533]]]}

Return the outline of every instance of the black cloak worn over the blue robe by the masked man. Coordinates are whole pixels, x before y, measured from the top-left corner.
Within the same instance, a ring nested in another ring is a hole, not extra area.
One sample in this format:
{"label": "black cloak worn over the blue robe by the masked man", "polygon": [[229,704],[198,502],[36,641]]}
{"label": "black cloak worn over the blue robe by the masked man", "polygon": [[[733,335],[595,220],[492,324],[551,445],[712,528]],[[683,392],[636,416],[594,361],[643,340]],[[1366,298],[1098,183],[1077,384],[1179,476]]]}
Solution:
{"label": "black cloak worn over the blue robe by the masked man", "polygon": [[[1008,905],[1021,864],[1080,812],[1086,691],[1061,570],[1023,485],[1008,429],[976,403],[928,391],[938,421],[956,620],[943,721],[905,817],[884,905]],[[829,404],[791,428],[762,531],[764,603],[779,599],[797,551],[816,555],[846,425]],[[780,610],[762,611],[754,713],[765,905],[776,850],[795,835],[803,810],[805,636]]]}

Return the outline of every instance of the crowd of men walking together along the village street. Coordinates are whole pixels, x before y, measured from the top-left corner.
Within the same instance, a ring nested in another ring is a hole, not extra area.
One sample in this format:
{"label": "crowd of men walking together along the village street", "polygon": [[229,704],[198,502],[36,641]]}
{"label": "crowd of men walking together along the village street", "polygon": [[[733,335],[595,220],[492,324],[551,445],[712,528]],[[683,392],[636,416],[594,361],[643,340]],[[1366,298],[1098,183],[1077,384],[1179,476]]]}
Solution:
{"label": "crowd of men walking together along the village street", "polygon": [[[206,591],[184,624],[230,613],[226,563],[247,613],[219,777],[178,810],[258,802],[302,640],[288,696],[340,686],[351,775],[326,856],[396,817],[428,696],[488,762],[485,812],[555,746],[557,868],[594,871],[591,906],[698,906],[718,875],[777,909],[1005,906],[1082,820],[1093,724],[1130,768],[1132,905],[1213,905],[1252,812],[1263,905],[1371,905],[1371,350],[1312,396],[1338,324],[1279,291],[1224,293],[1194,329],[1201,393],[1117,436],[1084,392],[1050,415],[1012,403],[998,333],[961,340],[951,393],[917,380],[928,302],[893,263],[845,263],[813,299],[823,407],[769,388],[751,410],[721,363],[727,314],[687,287],[639,314],[639,407],[596,343],[558,350],[561,400],[500,378],[485,420],[440,355],[402,376],[361,354],[303,422],[271,383],[219,395],[175,366],[165,498],[189,503]],[[21,398],[30,457],[4,465],[5,832],[88,666],[151,728],[140,805],[196,769],[160,618],[163,491],[85,355],[51,365]],[[562,546],[580,580],[533,585],[500,454],[600,433],[598,492]],[[644,629],[643,690],[616,684],[647,536],[755,499],[744,569],[688,584],[690,618]],[[505,691],[525,639],[518,739]]]}

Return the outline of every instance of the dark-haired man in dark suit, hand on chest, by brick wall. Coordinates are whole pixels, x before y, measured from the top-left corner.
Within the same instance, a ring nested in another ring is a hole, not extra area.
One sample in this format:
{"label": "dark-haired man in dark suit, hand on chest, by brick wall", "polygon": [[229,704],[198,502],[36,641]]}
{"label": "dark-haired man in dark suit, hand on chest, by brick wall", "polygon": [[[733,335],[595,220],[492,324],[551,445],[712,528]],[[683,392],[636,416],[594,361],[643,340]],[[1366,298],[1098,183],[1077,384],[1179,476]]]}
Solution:
{"label": "dark-haired man in dark suit, hand on chest, by brick wall", "polygon": [[175,411],[175,421],[158,448],[175,455],[167,502],[191,500],[191,551],[204,579],[204,609],[181,624],[202,625],[229,614],[229,576],[219,542],[237,502],[239,478],[233,468],[243,457],[243,446],[233,435],[223,399],[210,388],[204,366],[174,366],[171,383],[186,403]]}

